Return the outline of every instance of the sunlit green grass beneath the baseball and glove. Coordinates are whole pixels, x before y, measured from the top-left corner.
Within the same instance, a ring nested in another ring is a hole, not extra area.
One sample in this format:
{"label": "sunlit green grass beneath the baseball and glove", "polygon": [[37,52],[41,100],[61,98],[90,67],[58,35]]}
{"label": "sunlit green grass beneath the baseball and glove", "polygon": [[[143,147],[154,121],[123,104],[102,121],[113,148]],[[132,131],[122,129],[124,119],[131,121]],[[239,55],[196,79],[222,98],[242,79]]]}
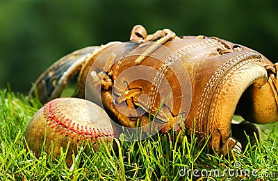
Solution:
{"label": "sunlit green grass beneath the baseball and glove", "polygon": [[[24,130],[33,114],[42,106],[36,99],[30,102],[26,96],[6,89],[0,90],[0,180],[277,180],[278,178],[277,124],[262,127],[263,141],[259,142],[258,146],[247,146],[244,153],[234,154],[233,159],[209,154],[206,144],[199,144],[194,135],[192,137],[181,135],[181,139],[174,139],[177,135],[170,132],[169,135],[154,135],[143,141],[115,141],[117,151],[109,152],[106,144],[97,152],[90,150],[84,153],[84,149],[80,148],[77,153],[78,159],[74,161],[72,167],[67,168],[65,153],[52,162],[43,151],[37,158],[26,146]],[[186,174],[183,176],[185,169]],[[190,169],[202,173],[219,171],[219,174],[197,178],[193,174],[197,172],[189,171],[187,174]],[[248,171],[250,176],[240,174]]]}

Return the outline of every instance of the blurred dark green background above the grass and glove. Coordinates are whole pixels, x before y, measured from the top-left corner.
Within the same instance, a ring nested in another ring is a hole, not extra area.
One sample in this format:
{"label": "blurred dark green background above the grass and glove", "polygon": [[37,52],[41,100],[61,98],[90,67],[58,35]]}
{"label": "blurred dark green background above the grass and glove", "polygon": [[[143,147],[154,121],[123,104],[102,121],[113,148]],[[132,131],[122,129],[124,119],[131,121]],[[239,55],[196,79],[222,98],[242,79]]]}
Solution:
{"label": "blurred dark green background above the grass and glove", "polygon": [[277,61],[277,0],[0,0],[0,89],[26,94],[58,58],[85,46],[149,33],[218,36]]}

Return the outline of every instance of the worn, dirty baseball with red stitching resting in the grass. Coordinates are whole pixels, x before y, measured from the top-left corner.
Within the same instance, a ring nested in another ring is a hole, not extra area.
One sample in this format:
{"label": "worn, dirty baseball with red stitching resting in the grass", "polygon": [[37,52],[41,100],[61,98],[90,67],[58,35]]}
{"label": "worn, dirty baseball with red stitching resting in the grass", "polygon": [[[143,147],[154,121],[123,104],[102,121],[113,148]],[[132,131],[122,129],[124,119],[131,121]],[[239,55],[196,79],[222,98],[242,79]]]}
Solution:
{"label": "worn, dirty baseball with red stitching resting in the grass", "polygon": [[70,142],[66,162],[71,165],[72,153],[77,154],[82,142],[97,150],[99,140],[111,143],[114,131],[106,112],[95,103],[81,98],[56,98],[40,108],[26,128],[27,144],[38,155],[44,135],[46,153],[51,153],[51,142],[54,144],[53,159],[60,155],[60,147],[65,150]]}

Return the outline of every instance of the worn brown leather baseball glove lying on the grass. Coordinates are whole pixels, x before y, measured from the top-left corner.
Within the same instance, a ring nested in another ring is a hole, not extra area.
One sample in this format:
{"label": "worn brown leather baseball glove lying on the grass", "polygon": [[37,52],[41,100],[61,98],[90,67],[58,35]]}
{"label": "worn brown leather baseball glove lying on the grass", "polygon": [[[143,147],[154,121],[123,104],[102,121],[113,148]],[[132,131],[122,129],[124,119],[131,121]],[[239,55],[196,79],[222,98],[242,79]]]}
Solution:
{"label": "worn brown leather baseball glove lying on the grass", "polygon": [[[277,64],[245,46],[218,37],[177,37],[168,29],[147,35],[139,25],[131,42],[88,50],[76,59],[76,52],[67,55],[37,80],[40,100],[60,96],[80,70],[76,96],[102,104],[121,126],[149,126],[151,132],[184,126],[224,155],[240,150],[231,131],[234,114],[252,123],[278,121]],[[233,128],[243,132],[246,125]]]}

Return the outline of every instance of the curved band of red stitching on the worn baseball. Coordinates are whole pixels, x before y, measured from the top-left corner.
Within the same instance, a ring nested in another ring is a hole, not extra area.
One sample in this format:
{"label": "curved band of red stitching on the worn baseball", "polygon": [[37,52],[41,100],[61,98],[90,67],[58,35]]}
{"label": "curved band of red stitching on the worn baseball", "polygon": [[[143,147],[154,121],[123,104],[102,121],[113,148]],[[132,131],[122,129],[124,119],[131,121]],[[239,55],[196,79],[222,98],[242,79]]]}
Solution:
{"label": "curved band of red stitching on the worn baseball", "polygon": [[[104,137],[111,139],[114,137],[112,128],[105,128],[103,130],[97,128],[88,128],[88,126],[83,126],[72,122],[72,120],[65,117],[63,113],[58,109],[58,100],[52,100],[44,105],[43,114],[44,118],[47,120],[48,125],[51,128],[55,128],[55,132],[60,132],[60,135],[65,134],[66,137],[70,136],[72,139],[79,136],[77,140],[82,138],[88,139],[90,137],[91,141],[97,141],[97,139],[102,139]],[[74,128],[76,125],[76,128]]]}

